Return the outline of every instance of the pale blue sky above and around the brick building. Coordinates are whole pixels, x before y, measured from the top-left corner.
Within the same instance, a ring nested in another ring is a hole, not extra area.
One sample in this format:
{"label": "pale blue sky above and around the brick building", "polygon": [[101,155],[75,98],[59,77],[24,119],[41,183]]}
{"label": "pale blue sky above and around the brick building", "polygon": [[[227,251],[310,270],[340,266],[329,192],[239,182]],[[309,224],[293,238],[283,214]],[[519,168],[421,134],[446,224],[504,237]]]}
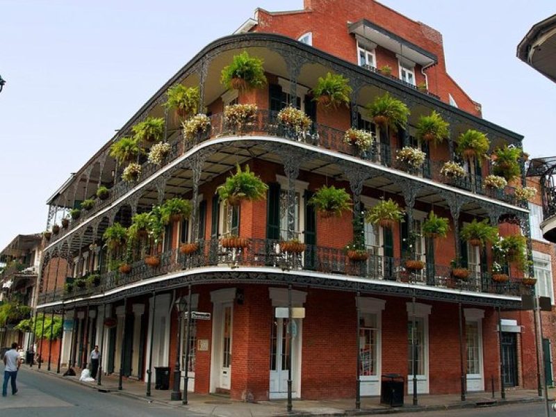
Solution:
{"label": "pale blue sky above and around the brick building", "polygon": [[[516,58],[554,0],[382,3],[443,33],[448,71],[487,120],[523,134],[532,156],[556,154],[556,85]],[[47,198],[206,44],[256,7],[302,4],[0,0],[0,250],[44,230]]]}

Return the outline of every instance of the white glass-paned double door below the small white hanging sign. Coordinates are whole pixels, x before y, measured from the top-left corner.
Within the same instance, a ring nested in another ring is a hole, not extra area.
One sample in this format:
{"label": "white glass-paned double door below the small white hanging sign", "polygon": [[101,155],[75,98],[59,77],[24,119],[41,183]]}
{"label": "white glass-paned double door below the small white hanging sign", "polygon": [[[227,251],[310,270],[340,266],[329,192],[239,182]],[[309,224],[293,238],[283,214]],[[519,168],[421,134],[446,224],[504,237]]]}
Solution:
{"label": "white glass-paned double door below the small white hanging sign", "polygon": [[271,352],[270,352],[270,399],[287,398],[288,396],[288,370],[289,354],[292,355],[292,396],[299,398],[298,385],[298,359],[301,346],[301,320],[292,322],[291,349],[288,343],[288,320],[275,318],[272,322]]}

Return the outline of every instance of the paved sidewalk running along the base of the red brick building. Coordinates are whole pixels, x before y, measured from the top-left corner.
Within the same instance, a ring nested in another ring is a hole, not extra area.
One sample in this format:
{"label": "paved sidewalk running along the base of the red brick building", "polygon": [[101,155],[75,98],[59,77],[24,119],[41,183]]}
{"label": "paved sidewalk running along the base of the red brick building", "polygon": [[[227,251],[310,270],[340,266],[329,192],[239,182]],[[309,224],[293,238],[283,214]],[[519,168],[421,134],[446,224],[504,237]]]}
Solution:
{"label": "paved sidewalk running along the base of the red brick building", "polygon": [[[124,395],[128,398],[135,398],[138,400],[146,400],[147,384],[142,381],[124,378],[122,384],[122,391],[117,389],[118,378],[117,376],[103,376],[101,379],[102,385],[98,386],[97,382],[80,382],[80,370],[76,369],[78,376],[76,377],[63,377],[62,373],[56,374],[56,370],[47,371],[44,366],[39,370],[37,366],[29,368],[25,366],[26,370],[34,370],[35,372],[42,372],[54,377],[71,380],[76,384],[89,386],[90,389],[100,389],[108,395]],[[65,371],[65,369],[63,370]],[[171,385],[170,381],[170,385]],[[361,398],[361,409],[355,409],[354,399],[348,400],[294,400],[293,412],[288,414],[286,411],[286,400],[272,400],[272,401],[259,401],[256,403],[240,402],[230,400],[225,395],[200,395],[195,393],[188,393],[188,404],[182,405],[181,401],[170,401],[171,390],[155,390],[154,382],[152,383],[151,397],[148,398],[153,402],[160,404],[170,405],[172,407],[183,407],[188,411],[195,414],[203,414],[206,416],[225,416],[225,417],[279,417],[279,416],[360,416],[366,414],[392,414],[392,413],[407,413],[410,411],[436,411],[443,409],[461,409],[461,408],[474,408],[484,406],[495,406],[502,404],[512,404],[516,402],[540,402],[543,398],[537,395],[536,390],[524,389],[507,389],[506,398],[500,398],[500,392],[495,393],[495,398],[492,398],[491,393],[469,393],[466,401],[461,401],[459,395],[420,395],[418,397],[418,405],[413,406],[411,395],[404,396],[404,407],[385,407],[380,405],[380,399]],[[548,398],[552,400],[556,394],[556,389],[548,390]]]}

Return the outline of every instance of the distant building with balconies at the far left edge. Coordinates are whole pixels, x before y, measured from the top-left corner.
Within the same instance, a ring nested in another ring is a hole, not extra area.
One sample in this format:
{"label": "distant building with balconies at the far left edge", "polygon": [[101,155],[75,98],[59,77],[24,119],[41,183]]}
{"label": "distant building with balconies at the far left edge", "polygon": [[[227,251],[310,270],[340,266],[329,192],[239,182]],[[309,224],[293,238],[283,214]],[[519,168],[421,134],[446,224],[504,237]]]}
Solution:
{"label": "distant building with balconies at the far left edge", "polygon": [[[0,304],[10,304],[13,309],[19,306],[29,309],[35,307],[39,289],[37,279],[41,254],[41,234],[17,235],[0,252],[0,262],[5,265],[0,272]],[[31,347],[33,343],[31,333],[14,329],[22,318],[29,318],[29,313],[16,315],[3,323],[3,335],[0,337],[2,346],[9,346],[17,341],[25,350]]]}

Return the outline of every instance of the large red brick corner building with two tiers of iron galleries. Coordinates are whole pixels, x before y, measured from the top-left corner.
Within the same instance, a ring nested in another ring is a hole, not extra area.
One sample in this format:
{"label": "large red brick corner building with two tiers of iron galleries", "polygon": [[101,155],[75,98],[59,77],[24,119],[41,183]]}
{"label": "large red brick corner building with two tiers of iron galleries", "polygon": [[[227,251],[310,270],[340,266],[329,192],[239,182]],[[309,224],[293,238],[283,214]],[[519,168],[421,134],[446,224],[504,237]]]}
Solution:
{"label": "large red brick corner building with two tiers of iron galleries", "polygon": [[[220,84],[222,69],[242,51],[263,58],[265,88],[238,92]],[[384,65],[393,76],[377,71]],[[349,79],[349,108],[330,111],[313,101],[311,88],[327,72]],[[211,130],[184,140],[179,120],[165,117],[172,148],[164,163],[139,158],[138,181],[122,181],[111,145],[147,116],[165,115],[165,92],[177,83],[199,86]],[[411,110],[407,129],[398,133],[376,126],[364,110],[386,92]],[[224,122],[224,106],[235,103],[256,104],[254,121],[239,127]],[[288,104],[311,117],[309,132],[281,129],[276,112]],[[416,137],[420,115],[433,110],[451,131],[436,147]],[[368,151],[344,142],[350,126],[376,134]],[[505,190],[484,188],[491,164],[459,159],[456,140],[468,129],[488,133],[490,152],[502,145],[521,148],[523,137],[480,118],[480,105],[445,72],[441,34],[429,26],[375,1],[306,0],[304,10],[257,10],[238,34],[199,51],[49,199],[53,227],[94,197],[97,186],[110,188],[108,199],[96,199],[44,250],[38,308],[63,311],[62,362],[85,366],[97,343],[106,372],[144,379],[149,368],[174,366],[181,334],[182,376],[187,368],[188,388],[198,393],[285,398],[289,359],[294,398],[354,397],[359,360],[363,395],[379,395],[382,374],[411,381],[413,372],[418,393],[457,393],[461,366],[468,391],[490,389],[491,377],[499,386],[501,336],[505,385],[536,387],[532,315],[512,312],[531,288],[515,268],[505,271],[508,282],[494,282],[490,247],[462,243],[459,236],[477,218],[501,234],[521,229],[529,238],[530,212],[514,195],[519,181]],[[422,167],[397,161],[404,146],[425,152]],[[443,163],[454,159],[464,166],[459,179],[441,174]],[[268,183],[265,201],[235,208],[219,201],[215,190],[236,164],[249,164]],[[325,184],[348,190],[356,214],[382,197],[394,199],[407,211],[405,222],[393,229],[363,224],[368,259],[347,259],[353,214],[325,218],[308,204]],[[194,202],[193,215],[165,229],[160,265],[151,268],[137,256],[128,274],[109,270],[114,265],[102,241],[107,227],[129,226],[132,215],[176,196]],[[420,233],[430,211],[450,219],[446,238]],[[230,235],[247,238],[249,246],[224,247],[221,238]],[[284,250],[282,242],[292,238],[304,243],[302,253]],[[181,254],[186,242],[199,243],[199,250]],[[534,268],[546,271],[548,247],[528,247]],[[531,248],[543,254],[535,258]],[[425,264],[420,271],[404,262],[411,250]],[[471,271],[464,281],[451,274],[450,261],[458,258]],[[64,291],[65,284],[92,274],[100,275],[98,286]],[[553,293],[545,281],[539,291]],[[185,341],[186,320],[179,332],[174,301],[189,291],[191,309],[211,313],[211,319],[195,320]],[[292,326],[275,317],[275,307],[288,305],[305,309]],[[500,310],[508,321],[498,333]],[[185,346],[191,348],[187,366]],[[412,384],[404,389],[411,393]]]}

